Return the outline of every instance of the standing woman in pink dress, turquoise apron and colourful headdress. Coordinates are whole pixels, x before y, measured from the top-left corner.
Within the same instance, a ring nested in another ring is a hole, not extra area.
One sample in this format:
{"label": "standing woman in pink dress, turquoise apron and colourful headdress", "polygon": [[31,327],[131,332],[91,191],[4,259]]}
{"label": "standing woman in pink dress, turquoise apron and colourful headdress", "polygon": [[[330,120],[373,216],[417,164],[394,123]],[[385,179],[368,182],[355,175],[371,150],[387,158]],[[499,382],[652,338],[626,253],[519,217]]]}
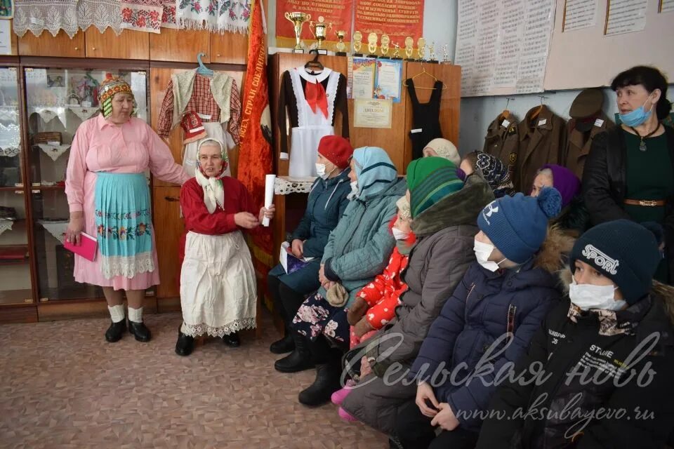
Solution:
{"label": "standing woman in pink dress, turquoise apron and colourful headdress", "polygon": [[131,86],[108,75],[98,93],[101,114],[84,121],[70,149],[65,193],[70,205],[66,239],[79,244],[81,232],[95,236],[93,262],[75,255],[75,280],[103,288],[112,324],[105,340],[126,330],[122,290],[128,302],[128,331],[150,341],[143,324],[145,289],[159,283],[159,265],[145,170],[166,182],[189,177],[169,147],[144,121],[132,117]]}

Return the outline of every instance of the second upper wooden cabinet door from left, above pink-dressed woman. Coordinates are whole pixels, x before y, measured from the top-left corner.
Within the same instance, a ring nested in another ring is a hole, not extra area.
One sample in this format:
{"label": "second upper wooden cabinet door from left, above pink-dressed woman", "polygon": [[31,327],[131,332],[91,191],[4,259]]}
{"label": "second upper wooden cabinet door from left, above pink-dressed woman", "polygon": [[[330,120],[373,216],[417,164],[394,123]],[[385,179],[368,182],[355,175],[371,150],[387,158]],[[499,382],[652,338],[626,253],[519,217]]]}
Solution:
{"label": "second upper wooden cabinet door from left, above pink-dressed woman", "polygon": [[87,58],[150,59],[150,33],[124,29],[117,36],[110,28],[100,33],[89,27],[84,34]]}

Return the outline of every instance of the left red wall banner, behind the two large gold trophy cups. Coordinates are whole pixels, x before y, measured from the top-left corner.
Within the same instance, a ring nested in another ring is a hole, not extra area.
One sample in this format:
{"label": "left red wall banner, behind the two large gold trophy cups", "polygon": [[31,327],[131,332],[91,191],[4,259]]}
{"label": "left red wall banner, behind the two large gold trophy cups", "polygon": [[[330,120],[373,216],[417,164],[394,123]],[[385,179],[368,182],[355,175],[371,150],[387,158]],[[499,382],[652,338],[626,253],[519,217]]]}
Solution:
{"label": "left red wall banner, behind the two large gold trophy cups", "polygon": [[[336,32],[345,31],[344,41],[351,40],[351,19],[353,17],[353,0],[277,0],[276,2],[276,45],[278,47],[295,46],[295,29],[293,23],[285,18],[286,13],[294,11],[307,13],[310,20],[317,22],[319,17],[324,18],[326,41],[337,41]],[[332,25],[332,27],[330,27]],[[307,47],[315,42],[309,22],[302,25],[300,41],[305,41]],[[327,46],[334,51],[333,46]]]}

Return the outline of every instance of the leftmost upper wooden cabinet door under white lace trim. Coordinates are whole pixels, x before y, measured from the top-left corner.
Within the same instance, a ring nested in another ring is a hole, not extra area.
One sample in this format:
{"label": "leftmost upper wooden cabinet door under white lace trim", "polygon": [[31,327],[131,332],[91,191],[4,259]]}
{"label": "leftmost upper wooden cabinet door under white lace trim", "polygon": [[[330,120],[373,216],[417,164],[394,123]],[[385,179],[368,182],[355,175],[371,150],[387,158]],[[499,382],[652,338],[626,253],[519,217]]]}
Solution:
{"label": "leftmost upper wooden cabinet door under white lace trim", "polygon": [[56,36],[52,36],[48,31],[42,32],[39,36],[26,32],[18,38],[18,53],[21,56],[84,58],[84,34],[79,31],[70,39],[62,30]]}

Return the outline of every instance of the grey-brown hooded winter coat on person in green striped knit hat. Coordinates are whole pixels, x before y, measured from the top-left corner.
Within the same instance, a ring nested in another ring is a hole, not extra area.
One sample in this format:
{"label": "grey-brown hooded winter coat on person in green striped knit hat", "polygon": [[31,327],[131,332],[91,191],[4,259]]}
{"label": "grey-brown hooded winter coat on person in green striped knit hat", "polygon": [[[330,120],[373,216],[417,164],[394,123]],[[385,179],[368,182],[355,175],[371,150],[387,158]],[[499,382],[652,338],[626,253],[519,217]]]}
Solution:
{"label": "grey-brown hooded winter coat on person in green striped knit hat", "polygon": [[365,377],[358,391],[341,404],[365,424],[392,434],[397,408],[409,401],[410,395],[414,397],[414,384],[406,387],[400,382],[384,382],[381,376],[392,363],[409,368],[416,358],[430,325],[475,261],[475,220],[493,200],[487,181],[471,175],[461,191],[424,210],[412,222],[417,243],[402,275],[408,290],[395,309],[395,319],[346,356],[350,364],[364,353],[371,360],[374,375]]}

